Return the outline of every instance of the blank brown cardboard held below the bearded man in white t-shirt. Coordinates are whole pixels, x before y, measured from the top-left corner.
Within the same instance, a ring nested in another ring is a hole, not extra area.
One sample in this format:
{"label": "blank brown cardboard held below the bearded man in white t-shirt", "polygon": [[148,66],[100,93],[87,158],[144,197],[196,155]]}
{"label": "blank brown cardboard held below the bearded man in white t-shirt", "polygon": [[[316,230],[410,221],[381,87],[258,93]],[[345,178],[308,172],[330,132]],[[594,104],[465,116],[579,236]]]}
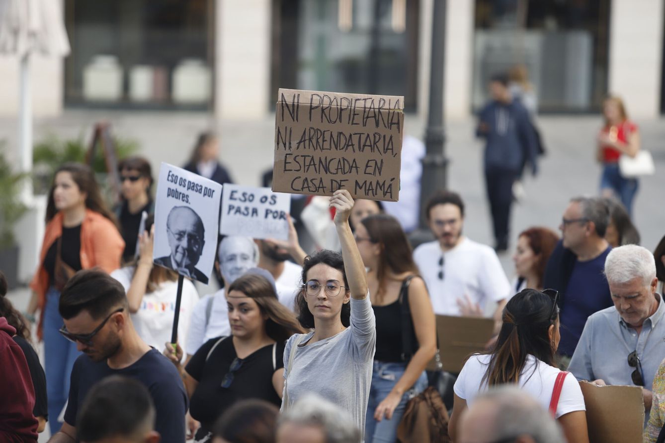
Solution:
{"label": "blank brown cardboard held below the bearded man in white t-shirt", "polygon": [[[436,316],[436,334],[439,337],[439,355],[442,369],[451,373],[462,371],[469,355],[485,350],[492,336],[494,320],[483,317]],[[428,370],[436,370],[434,360]]]}

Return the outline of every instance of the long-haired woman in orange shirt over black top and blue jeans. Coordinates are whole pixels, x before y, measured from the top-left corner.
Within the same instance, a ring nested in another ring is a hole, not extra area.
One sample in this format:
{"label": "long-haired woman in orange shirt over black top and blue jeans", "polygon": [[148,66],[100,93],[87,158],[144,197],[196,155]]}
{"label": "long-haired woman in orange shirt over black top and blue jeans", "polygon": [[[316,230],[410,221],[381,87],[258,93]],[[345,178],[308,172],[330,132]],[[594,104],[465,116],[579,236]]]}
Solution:
{"label": "long-haired woman in orange shirt over black top and blue jeans", "polygon": [[69,393],[69,375],[80,354],[76,344],[58,333],[60,292],[81,269],[98,266],[106,272],[120,267],[124,241],[116,219],[106,209],[92,169],[65,163],[55,171],[46,211],[46,229],[39,268],[31,282],[29,320],[41,311],[37,335],[44,340],[51,434],[60,429],[60,415]]}

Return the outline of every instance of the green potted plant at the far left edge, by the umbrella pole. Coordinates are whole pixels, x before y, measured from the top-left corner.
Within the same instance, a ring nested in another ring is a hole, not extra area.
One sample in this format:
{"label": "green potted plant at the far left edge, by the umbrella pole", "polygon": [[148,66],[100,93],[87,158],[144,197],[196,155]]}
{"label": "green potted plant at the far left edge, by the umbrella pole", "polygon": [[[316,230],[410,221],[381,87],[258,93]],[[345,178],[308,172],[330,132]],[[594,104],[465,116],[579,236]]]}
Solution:
{"label": "green potted plant at the far left edge, by the umbrella pole", "polygon": [[[4,145],[4,143],[2,143]],[[3,146],[4,147],[4,146]],[[14,226],[23,217],[27,207],[21,201],[21,189],[25,173],[16,173],[0,151],[0,270],[7,277],[9,288],[16,288],[19,272],[19,246],[14,236]]]}

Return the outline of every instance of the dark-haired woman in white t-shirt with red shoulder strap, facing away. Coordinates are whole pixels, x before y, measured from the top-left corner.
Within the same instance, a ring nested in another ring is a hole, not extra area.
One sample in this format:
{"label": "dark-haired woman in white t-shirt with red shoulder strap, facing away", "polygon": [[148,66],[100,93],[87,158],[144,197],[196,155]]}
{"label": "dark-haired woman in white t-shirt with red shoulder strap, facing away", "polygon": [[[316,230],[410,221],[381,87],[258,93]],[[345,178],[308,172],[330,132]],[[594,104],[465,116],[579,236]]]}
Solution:
{"label": "dark-haired woman in white t-shirt with red shoulder strap, facing away", "polygon": [[[514,384],[548,408],[569,443],[589,443],[584,397],[572,374],[559,371],[558,293],[525,289],[503,308],[503,325],[494,347],[471,355],[455,382],[448,431],[455,441],[462,412],[489,387]],[[559,387],[557,387],[559,386]],[[558,396],[558,397],[557,397]]]}

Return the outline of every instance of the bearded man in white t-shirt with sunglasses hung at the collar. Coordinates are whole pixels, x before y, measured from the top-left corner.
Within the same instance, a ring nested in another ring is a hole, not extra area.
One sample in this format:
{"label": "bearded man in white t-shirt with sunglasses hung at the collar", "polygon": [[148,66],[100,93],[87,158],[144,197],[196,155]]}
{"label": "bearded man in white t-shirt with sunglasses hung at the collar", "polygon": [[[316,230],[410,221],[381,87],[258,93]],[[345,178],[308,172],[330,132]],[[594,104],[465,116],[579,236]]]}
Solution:
{"label": "bearded man in white t-shirt with sunglasses hung at the collar", "polygon": [[497,303],[495,311],[500,313],[510,284],[496,252],[462,234],[460,195],[439,191],[428,201],[425,215],[436,240],[418,246],[414,260],[430,291],[434,313],[483,316],[487,303]]}

